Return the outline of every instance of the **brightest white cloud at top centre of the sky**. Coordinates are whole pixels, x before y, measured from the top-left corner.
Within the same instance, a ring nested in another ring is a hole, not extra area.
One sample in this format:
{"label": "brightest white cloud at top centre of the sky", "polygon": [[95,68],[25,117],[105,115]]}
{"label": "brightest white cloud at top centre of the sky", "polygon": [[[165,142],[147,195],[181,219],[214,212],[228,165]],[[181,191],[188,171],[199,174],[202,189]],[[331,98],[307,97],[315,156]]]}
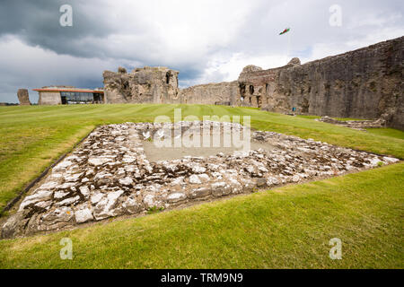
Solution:
{"label": "brightest white cloud at top centre of the sky", "polygon": [[[237,41],[262,1],[127,1],[106,5],[115,32],[100,46],[114,57],[188,65]],[[100,40],[100,39],[99,39]],[[160,64],[159,64],[160,65]]]}

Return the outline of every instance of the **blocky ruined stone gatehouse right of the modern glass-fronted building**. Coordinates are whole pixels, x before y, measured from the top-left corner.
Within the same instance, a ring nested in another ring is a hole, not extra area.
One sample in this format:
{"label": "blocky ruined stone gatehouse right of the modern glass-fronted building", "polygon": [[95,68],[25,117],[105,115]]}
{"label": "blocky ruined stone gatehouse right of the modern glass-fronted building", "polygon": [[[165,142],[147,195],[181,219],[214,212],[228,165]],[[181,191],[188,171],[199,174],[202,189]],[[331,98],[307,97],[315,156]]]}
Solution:
{"label": "blocky ruined stone gatehouse right of the modern glass-fronted building", "polygon": [[167,67],[136,68],[127,74],[104,71],[104,94],[107,103],[175,103],[178,98],[179,72]]}

